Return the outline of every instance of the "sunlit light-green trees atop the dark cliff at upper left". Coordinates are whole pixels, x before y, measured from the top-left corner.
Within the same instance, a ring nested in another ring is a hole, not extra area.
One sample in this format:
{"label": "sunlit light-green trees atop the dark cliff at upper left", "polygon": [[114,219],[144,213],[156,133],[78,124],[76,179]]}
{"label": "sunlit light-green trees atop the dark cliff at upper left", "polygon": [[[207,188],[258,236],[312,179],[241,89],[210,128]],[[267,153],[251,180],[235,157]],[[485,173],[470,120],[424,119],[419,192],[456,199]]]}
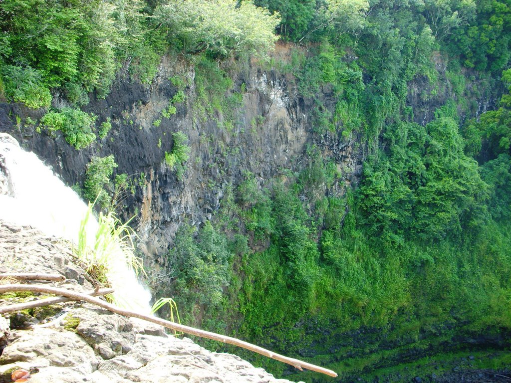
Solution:
{"label": "sunlit light-green trees atop the dark cliff at upper left", "polygon": [[0,4],[2,93],[31,108],[49,106],[60,88],[69,102],[104,97],[115,71],[149,84],[169,49],[223,58],[271,49],[279,18],[250,1],[139,0],[65,2],[5,0]]}

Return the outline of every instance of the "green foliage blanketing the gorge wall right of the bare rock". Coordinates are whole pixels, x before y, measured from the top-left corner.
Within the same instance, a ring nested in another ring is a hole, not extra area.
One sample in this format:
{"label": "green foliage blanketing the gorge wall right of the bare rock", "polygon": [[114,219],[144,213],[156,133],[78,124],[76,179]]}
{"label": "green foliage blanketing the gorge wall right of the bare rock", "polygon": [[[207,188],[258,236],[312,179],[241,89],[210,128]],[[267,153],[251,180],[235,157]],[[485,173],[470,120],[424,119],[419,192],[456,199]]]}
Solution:
{"label": "green foliage blanketing the gorge wall right of the bare rock", "polygon": [[[366,153],[363,174],[355,190],[336,193],[341,176],[335,159],[317,147],[308,149],[299,173],[285,172],[285,185],[274,179],[264,189],[245,172],[244,180],[225,194],[216,224],[205,229],[223,238],[225,251],[235,236],[242,250],[230,251],[217,264],[222,265],[220,282],[178,273],[170,289],[187,292],[178,298],[184,304],[180,310],[210,329],[225,328],[273,349],[311,355],[346,377],[399,366],[407,352],[412,358],[437,354],[446,359],[446,352],[475,352],[464,340],[478,333],[507,333],[509,98],[504,94],[499,109],[478,119],[463,118],[478,111],[473,98],[484,97],[494,84],[492,76],[502,76],[506,87],[511,83],[508,71],[501,74],[509,65],[509,29],[496,26],[489,37],[495,40],[485,40],[480,50],[473,42],[460,48],[467,43],[464,34],[474,33],[472,39],[476,29],[478,36],[490,33],[487,26],[500,22],[507,5],[433,0],[256,4],[281,14],[277,32],[285,38],[317,42],[307,53],[293,51],[278,67],[294,75],[300,95],[314,106],[318,138],[360,138]],[[336,18],[341,6],[352,7],[344,9],[354,10],[353,17]],[[497,39],[505,46],[501,51],[490,48]],[[220,115],[221,120],[226,108],[220,97],[228,94],[229,80],[208,61],[198,63],[197,74],[200,105],[210,106],[202,117]],[[421,100],[438,93],[451,98],[427,124],[415,122],[407,106],[409,84],[417,78],[429,87]],[[187,241],[187,248],[199,246],[191,234]],[[176,242],[173,251],[181,246]],[[191,291],[215,296],[212,290],[219,284],[222,299],[192,298]],[[280,364],[255,360],[283,372]]]}

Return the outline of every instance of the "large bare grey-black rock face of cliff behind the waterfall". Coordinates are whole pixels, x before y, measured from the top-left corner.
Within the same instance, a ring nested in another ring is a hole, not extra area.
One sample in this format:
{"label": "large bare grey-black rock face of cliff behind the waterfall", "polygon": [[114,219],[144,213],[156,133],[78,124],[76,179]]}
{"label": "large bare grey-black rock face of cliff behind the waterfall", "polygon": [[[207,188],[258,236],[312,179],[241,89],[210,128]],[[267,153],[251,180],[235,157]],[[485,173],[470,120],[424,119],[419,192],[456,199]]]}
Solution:
{"label": "large bare grey-black rock face of cliff behind the waterfall", "polygon": [[[121,73],[107,98],[94,99],[86,108],[98,116],[97,125],[107,118],[112,124],[108,136],[87,149],[75,150],[60,133],[51,137],[44,130],[37,133],[34,127],[15,126],[9,116],[38,119],[43,115],[43,111],[30,111],[18,104],[0,103],[0,130],[38,154],[70,185],[83,182],[91,156],[114,154],[117,173],[132,175],[135,184],[134,194],[127,193],[123,201],[125,216],[140,212],[137,232],[141,249],[160,261],[164,259],[159,255],[172,244],[179,225],[200,225],[211,219],[226,187],[236,185],[244,171],[264,185],[282,169],[300,169],[306,146],[315,143],[332,154],[347,184],[360,174],[362,158],[354,140],[312,133],[312,106],[298,94],[290,76],[257,66],[240,69],[233,75],[234,90],[241,92],[243,87],[243,102],[234,111],[233,127],[225,128],[221,115],[197,118],[193,85],[185,89],[187,101],[177,106],[177,113],[168,119],[161,117],[177,92],[169,80],[176,75],[194,83],[193,66],[168,58],[149,88],[130,82]],[[159,126],[153,124],[157,119]],[[165,152],[173,145],[171,133],[177,131],[188,136],[191,148],[182,179],[164,162]],[[340,185],[338,192],[343,189]]]}

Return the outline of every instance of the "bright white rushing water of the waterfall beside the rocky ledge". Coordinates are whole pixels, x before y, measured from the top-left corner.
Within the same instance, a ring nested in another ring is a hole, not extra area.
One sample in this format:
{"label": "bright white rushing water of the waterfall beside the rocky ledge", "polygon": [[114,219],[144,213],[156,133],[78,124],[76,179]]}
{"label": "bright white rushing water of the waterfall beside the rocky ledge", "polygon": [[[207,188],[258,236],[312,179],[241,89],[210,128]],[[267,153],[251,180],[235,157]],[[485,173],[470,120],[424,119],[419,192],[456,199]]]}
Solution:
{"label": "bright white rushing water of the waterfall beside the rocky ledge", "polygon": [[[78,243],[80,223],[88,207],[78,195],[53,174],[50,167],[17,141],[0,133],[0,157],[9,172],[11,195],[0,195],[0,218],[30,225],[48,235]],[[98,221],[89,218],[87,244],[94,244]],[[150,313],[150,293],[138,282],[124,259],[110,259],[107,277],[115,290],[115,302],[143,314]]]}

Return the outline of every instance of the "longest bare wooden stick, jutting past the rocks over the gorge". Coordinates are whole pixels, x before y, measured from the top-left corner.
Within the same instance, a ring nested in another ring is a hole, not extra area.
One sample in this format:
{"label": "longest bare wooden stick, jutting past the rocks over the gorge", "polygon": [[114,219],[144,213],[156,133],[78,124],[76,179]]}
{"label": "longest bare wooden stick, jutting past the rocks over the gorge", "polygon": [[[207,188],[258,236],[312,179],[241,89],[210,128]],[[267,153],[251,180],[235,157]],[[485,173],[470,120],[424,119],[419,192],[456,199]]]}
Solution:
{"label": "longest bare wooden stick, jutting past the rocks over the gorge", "polygon": [[104,302],[98,298],[94,298],[91,296],[88,296],[83,293],[77,293],[74,291],[68,291],[64,289],[54,288],[50,286],[36,286],[36,285],[28,285],[28,284],[5,284],[0,285],[0,293],[7,293],[7,292],[14,292],[14,291],[30,291],[30,292],[39,292],[39,293],[47,293],[47,294],[55,294],[55,295],[62,295],[64,297],[73,298],[75,300],[83,300],[88,303],[96,304],[100,307],[103,307],[112,313],[123,315],[125,317],[133,317],[138,319],[143,319],[148,322],[159,324],[160,326],[164,326],[167,328],[171,328],[173,330],[186,332],[188,334],[195,335],[197,337],[201,338],[207,338],[212,339],[214,341],[223,342],[223,343],[229,343],[238,347],[246,348],[247,350],[257,352],[261,355],[268,356],[272,359],[275,359],[280,362],[287,363],[291,366],[296,367],[298,370],[308,369],[311,371],[316,371],[322,374],[326,374],[329,376],[336,377],[337,373],[332,370],[328,370],[323,367],[315,366],[313,364],[300,361],[298,359],[290,358],[281,354],[277,354],[275,352],[269,351],[265,348],[255,346],[251,343],[241,341],[236,338],[227,337],[224,335],[217,334],[215,332],[205,331],[205,330],[199,330],[194,327],[184,326],[182,324],[166,321],[164,319],[156,318],[156,317],[150,317],[148,315],[135,313],[129,310],[121,309],[119,307],[115,307],[111,305],[110,303]]}

